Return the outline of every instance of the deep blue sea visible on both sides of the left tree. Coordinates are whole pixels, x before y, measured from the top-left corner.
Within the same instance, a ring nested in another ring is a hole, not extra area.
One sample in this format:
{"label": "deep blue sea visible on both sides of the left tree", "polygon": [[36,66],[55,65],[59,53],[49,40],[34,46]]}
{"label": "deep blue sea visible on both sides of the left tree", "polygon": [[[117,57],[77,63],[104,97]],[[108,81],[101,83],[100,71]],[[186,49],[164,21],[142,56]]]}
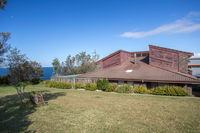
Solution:
{"label": "deep blue sea visible on both sides of the left tree", "polygon": [[[53,67],[43,67],[43,76],[41,77],[44,80],[49,80],[53,74]],[[0,68],[0,76],[5,76],[8,74],[6,68]]]}

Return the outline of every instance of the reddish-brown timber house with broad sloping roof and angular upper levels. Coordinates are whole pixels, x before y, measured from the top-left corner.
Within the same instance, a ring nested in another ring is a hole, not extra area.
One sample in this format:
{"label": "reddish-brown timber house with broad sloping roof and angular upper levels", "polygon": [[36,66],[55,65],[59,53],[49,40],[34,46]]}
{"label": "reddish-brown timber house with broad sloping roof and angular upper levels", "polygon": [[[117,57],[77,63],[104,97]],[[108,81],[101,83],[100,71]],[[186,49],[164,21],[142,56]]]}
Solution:
{"label": "reddish-brown timber house with broad sloping roof and angular upper levels", "polygon": [[162,85],[178,85],[191,94],[191,85],[200,84],[200,80],[192,76],[188,69],[191,56],[193,53],[154,45],[149,45],[149,51],[118,50],[97,61],[96,71],[79,75],[74,82],[107,79],[111,83],[144,85],[149,89]]}

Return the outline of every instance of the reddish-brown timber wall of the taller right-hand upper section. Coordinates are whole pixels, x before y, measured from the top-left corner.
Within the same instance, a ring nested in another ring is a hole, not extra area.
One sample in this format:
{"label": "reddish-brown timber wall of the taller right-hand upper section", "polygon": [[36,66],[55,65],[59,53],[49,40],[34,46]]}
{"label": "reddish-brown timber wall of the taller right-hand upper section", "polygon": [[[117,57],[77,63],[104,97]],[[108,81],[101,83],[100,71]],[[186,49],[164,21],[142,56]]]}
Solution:
{"label": "reddish-brown timber wall of the taller right-hand upper section", "polygon": [[149,46],[149,63],[170,71],[188,73],[188,53],[167,48]]}

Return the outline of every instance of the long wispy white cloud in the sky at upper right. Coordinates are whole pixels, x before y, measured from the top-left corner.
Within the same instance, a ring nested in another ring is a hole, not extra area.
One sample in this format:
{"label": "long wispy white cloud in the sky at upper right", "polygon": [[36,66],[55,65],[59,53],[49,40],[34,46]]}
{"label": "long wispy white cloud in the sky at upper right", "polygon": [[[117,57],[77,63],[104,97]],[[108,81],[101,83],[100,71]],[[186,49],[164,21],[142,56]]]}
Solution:
{"label": "long wispy white cloud in the sky at upper right", "polygon": [[200,30],[200,12],[190,12],[185,17],[175,22],[159,26],[149,31],[124,32],[121,37],[143,38],[157,34],[191,33]]}

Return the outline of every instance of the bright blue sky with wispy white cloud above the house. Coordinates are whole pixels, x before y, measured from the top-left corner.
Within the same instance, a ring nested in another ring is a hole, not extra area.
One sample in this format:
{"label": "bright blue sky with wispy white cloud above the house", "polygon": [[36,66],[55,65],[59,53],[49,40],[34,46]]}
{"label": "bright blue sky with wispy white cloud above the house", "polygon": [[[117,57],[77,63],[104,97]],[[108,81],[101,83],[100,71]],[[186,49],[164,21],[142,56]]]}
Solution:
{"label": "bright blue sky with wispy white cloud above the house", "polygon": [[8,0],[0,31],[31,60],[94,50],[148,50],[148,44],[200,53],[199,0]]}

